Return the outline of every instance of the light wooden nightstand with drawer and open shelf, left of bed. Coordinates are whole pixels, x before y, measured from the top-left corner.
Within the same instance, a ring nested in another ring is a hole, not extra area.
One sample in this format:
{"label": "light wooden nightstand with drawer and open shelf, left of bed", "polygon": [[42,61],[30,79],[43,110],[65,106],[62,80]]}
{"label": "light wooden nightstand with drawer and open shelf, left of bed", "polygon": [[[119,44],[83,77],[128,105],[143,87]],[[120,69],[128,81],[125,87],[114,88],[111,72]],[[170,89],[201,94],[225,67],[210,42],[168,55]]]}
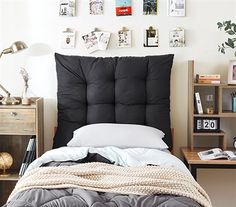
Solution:
{"label": "light wooden nightstand with drawer and open shelf, left of bed", "polygon": [[0,206],[19,179],[23,156],[32,135],[36,136],[36,157],[39,157],[43,153],[43,98],[32,98],[29,106],[0,105],[0,152],[8,152],[13,157],[7,175],[0,175]]}

